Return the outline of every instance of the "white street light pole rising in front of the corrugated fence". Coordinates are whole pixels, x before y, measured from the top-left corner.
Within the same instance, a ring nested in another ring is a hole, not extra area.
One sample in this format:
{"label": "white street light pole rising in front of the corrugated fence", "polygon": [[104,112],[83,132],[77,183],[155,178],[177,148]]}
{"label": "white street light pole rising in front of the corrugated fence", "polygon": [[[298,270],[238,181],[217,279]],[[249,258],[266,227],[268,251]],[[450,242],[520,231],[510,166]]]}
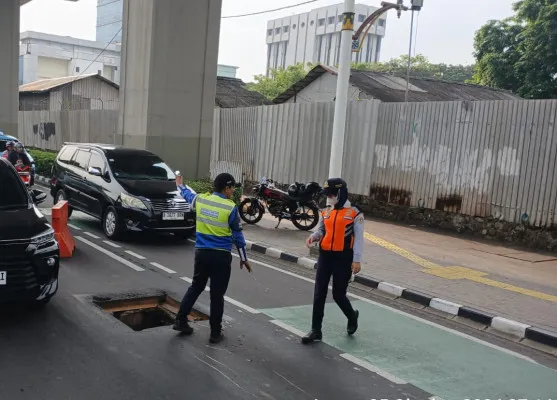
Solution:
{"label": "white street light pole rising in front of the corrugated fence", "polygon": [[354,31],[355,0],[344,0],[344,15],[340,38],[340,62],[335,97],[335,114],[333,137],[331,140],[331,160],[329,178],[340,178],[344,154],[344,131],[348,109],[348,85],[350,83],[350,66],[352,64],[352,32]]}

